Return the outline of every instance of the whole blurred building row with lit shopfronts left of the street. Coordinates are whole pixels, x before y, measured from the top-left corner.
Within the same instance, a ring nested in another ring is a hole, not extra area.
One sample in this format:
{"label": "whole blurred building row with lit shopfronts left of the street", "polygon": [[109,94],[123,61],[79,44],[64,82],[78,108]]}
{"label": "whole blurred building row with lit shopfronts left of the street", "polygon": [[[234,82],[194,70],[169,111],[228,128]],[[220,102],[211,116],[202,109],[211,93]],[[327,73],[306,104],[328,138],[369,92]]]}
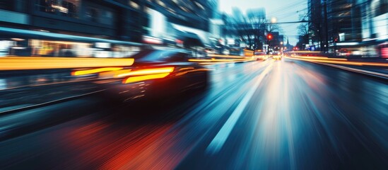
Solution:
{"label": "whole blurred building row with lit shopfronts left of the street", "polygon": [[[184,34],[184,31],[190,32],[186,34],[188,37],[200,36],[206,40],[209,16],[213,15],[208,10],[211,8],[207,0],[2,0],[0,53],[105,57],[131,51],[128,45],[133,43],[130,42],[165,43],[155,37],[171,38],[174,44],[170,34]],[[23,34],[19,35],[18,31]],[[24,36],[27,33],[31,34]]]}

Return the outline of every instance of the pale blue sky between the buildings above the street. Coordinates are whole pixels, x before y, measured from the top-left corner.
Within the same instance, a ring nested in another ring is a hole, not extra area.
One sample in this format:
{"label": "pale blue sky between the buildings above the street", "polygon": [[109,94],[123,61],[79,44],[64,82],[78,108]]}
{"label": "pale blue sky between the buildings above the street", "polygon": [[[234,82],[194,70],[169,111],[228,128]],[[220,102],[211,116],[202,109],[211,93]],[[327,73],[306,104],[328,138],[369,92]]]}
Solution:
{"label": "pale blue sky between the buildings above the street", "polygon": [[[245,13],[249,8],[266,8],[266,17],[275,17],[278,22],[300,21],[300,15],[307,13],[307,0],[218,0],[220,11],[232,13],[232,8],[237,7]],[[298,42],[298,26],[300,23],[280,24],[281,33],[288,37],[291,45]]]}

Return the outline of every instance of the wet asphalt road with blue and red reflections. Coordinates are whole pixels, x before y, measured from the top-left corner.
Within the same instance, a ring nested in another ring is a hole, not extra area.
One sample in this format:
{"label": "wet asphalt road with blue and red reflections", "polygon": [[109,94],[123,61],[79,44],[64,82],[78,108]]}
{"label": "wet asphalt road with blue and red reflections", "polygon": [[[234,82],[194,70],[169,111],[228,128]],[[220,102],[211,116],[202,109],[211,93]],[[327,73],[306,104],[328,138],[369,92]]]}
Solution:
{"label": "wet asphalt road with blue and red reflections", "polygon": [[209,66],[163,104],[88,96],[0,117],[1,169],[387,169],[388,84],[283,59]]}

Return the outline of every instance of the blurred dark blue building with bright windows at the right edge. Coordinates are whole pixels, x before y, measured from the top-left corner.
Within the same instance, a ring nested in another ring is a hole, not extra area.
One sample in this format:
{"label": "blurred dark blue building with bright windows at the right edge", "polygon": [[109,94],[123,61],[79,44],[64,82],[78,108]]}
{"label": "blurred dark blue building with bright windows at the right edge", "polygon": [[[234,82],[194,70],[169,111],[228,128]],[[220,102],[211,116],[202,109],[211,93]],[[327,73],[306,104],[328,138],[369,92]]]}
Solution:
{"label": "blurred dark blue building with bright windows at the right edge", "polygon": [[329,52],[336,55],[383,56],[388,42],[387,0],[308,2],[310,46],[324,50],[327,42]]}

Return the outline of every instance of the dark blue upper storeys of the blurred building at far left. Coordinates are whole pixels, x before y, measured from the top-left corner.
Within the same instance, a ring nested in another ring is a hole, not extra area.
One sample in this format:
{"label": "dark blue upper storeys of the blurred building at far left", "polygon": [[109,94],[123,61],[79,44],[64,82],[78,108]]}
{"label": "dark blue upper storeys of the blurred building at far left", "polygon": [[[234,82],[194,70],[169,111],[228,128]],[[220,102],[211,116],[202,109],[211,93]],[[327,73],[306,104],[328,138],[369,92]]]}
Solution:
{"label": "dark blue upper storeys of the blurred building at far left", "polygon": [[[124,1],[6,0],[1,1],[2,26],[52,33],[139,41],[141,8]],[[10,21],[11,20],[11,21]]]}

